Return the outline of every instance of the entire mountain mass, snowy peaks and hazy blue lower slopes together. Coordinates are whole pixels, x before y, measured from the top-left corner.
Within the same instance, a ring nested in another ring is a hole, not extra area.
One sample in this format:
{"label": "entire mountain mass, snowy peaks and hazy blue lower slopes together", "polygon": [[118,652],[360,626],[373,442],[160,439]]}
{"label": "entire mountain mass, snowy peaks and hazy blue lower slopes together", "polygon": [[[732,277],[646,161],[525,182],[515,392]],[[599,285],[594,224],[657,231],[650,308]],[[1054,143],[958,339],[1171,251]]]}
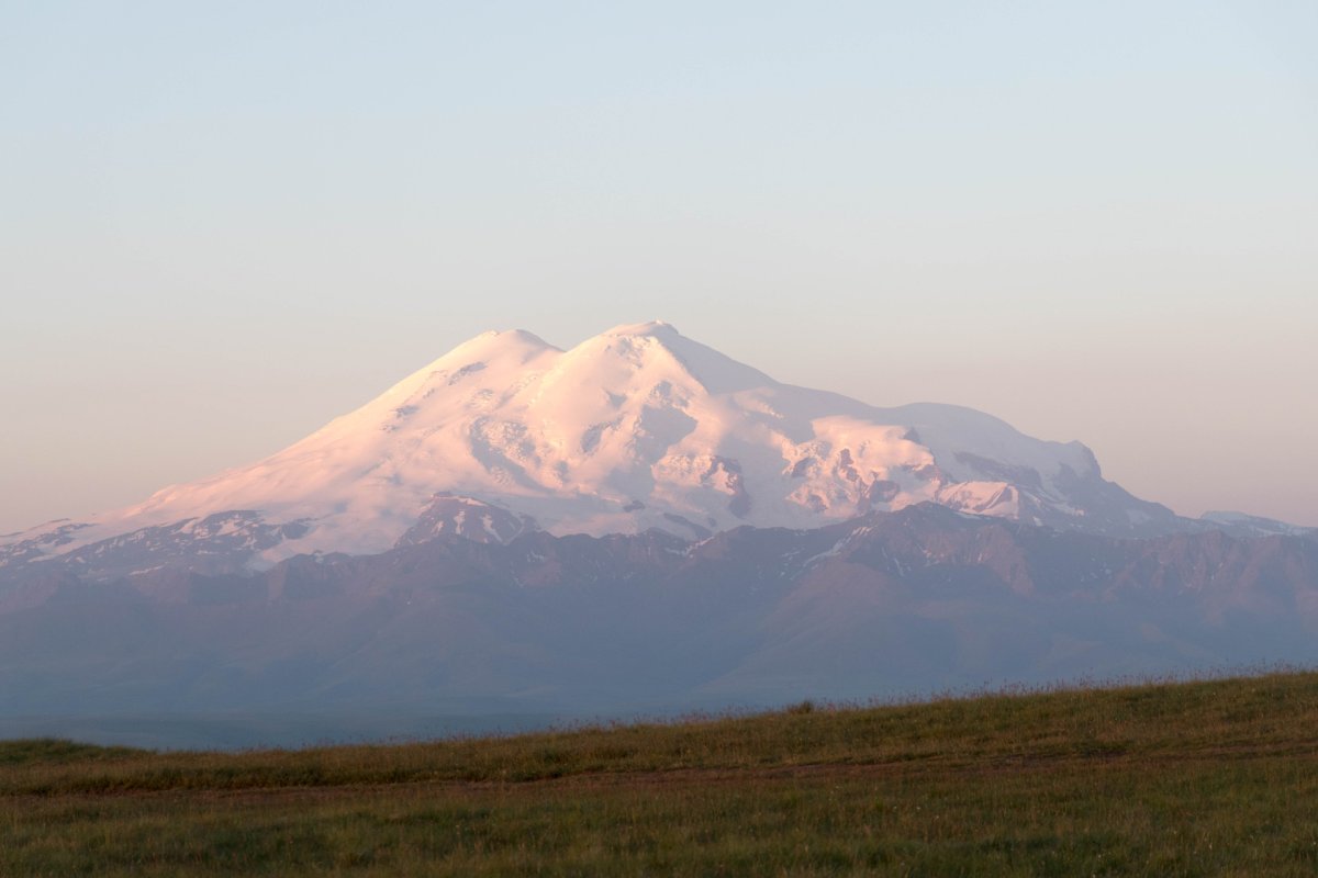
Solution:
{"label": "entire mountain mass, snowy peaks and hazy blue lower slopes together", "polygon": [[1315,529],[1182,517],[1079,442],[662,321],[484,333],[262,461],[0,537],[0,716],[115,740],[1311,663],[1315,629]]}

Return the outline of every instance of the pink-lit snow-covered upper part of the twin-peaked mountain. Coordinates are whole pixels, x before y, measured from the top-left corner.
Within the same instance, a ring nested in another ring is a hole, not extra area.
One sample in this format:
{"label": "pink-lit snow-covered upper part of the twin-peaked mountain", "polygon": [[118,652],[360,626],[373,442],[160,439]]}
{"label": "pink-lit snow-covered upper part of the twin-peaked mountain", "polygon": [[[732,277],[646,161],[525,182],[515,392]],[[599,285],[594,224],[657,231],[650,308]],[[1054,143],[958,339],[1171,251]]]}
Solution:
{"label": "pink-lit snow-covered upper part of the twin-peaked mountain", "polygon": [[123,575],[181,562],[198,541],[210,557],[188,563],[227,569],[445,530],[704,537],[924,502],[1107,536],[1197,527],[1104,480],[1078,442],[954,405],[876,408],[782,384],[647,323],[571,350],[522,330],[477,336],[264,461],[11,534],[0,569],[69,555]]}

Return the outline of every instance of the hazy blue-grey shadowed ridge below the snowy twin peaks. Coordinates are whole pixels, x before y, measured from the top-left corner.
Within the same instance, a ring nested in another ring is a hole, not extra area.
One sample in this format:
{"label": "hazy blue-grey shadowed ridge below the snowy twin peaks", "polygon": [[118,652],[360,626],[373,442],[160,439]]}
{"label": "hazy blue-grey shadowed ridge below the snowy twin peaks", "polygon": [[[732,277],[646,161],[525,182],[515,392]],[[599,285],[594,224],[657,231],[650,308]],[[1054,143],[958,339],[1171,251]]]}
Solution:
{"label": "hazy blue-grey shadowed ridge below the snowy twin peaks", "polygon": [[1318,658],[1310,536],[1116,540],[933,504],[700,542],[472,536],[11,581],[0,712],[623,715]]}

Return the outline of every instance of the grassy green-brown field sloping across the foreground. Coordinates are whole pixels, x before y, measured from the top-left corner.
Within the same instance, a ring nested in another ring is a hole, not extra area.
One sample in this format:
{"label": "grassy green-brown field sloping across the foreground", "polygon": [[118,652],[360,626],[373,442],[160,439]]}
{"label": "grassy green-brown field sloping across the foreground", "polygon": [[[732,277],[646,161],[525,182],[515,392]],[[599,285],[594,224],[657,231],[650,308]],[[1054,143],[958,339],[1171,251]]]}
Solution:
{"label": "grassy green-brown field sloping across the foreground", "polygon": [[393,746],[0,742],[0,875],[1313,875],[1318,674]]}

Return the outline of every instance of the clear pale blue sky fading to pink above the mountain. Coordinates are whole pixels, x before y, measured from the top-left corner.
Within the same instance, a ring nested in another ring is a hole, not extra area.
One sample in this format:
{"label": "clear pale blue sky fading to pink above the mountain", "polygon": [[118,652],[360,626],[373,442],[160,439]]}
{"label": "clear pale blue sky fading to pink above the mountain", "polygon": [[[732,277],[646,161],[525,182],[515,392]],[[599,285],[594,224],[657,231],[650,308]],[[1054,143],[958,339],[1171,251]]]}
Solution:
{"label": "clear pale blue sky fading to pink above the mountain", "polygon": [[1315,46],[1311,0],[0,0],[0,532],[651,319],[1318,525]]}

